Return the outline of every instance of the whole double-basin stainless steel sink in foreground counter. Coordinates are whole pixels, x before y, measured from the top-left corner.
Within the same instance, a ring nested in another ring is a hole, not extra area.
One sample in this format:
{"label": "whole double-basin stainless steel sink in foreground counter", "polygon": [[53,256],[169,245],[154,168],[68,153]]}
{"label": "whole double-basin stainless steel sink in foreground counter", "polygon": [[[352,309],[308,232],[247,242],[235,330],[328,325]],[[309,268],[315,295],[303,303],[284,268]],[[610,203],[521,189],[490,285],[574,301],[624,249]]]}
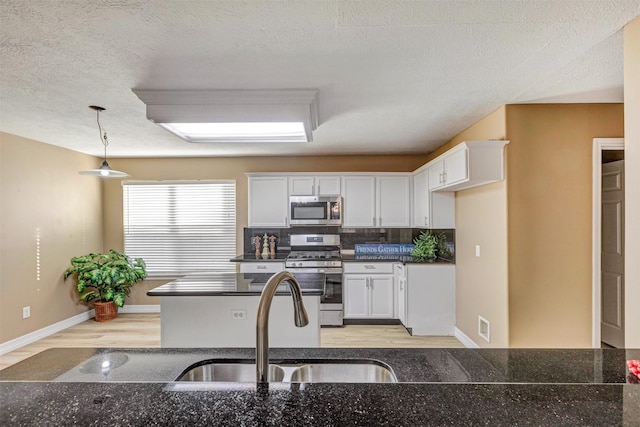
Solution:
{"label": "whole double-basin stainless steel sink in foreground counter", "polygon": [[[256,382],[253,360],[204,361],[187,368],[176,381]],[[282,360],[269,365],[269,382],[395,383],[393,370],[376,360]]]}

